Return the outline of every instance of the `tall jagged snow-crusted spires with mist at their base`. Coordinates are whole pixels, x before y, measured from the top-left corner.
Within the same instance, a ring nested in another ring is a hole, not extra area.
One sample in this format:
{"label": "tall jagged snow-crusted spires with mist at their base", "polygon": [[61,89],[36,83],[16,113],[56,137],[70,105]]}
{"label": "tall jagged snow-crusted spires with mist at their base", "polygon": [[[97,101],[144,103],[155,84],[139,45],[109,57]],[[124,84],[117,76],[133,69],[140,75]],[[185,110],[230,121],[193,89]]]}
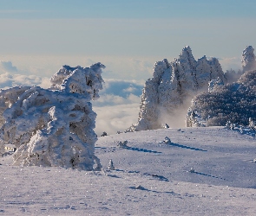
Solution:
{"label": "tall jagged snow-crusted spires with mist at their base", "polygon": [[225,82],[224,73],[216,58],[203,56],[194,60],[191,48],[185,47],[178,59],[166,59],[154,64],[153,78],[145,83],[141,96],[138,123],[126,131],[153,130],[167,122],[167,116],[179,109],[187,110],[187,99],[196,93],[207,91],[208,81],[219,79]]}

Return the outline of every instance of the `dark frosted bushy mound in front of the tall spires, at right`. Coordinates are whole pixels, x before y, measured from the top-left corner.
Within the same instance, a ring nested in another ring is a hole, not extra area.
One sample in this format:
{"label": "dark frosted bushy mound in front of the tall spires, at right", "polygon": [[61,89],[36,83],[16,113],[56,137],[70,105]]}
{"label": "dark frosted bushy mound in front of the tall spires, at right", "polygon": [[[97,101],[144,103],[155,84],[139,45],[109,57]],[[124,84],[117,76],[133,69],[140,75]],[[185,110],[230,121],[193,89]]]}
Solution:
{"label": "dark frosted bushy mound in front of the tall spires, at right", "polygon": [[[226,86],[213,88],[212,92],[197,95],[188,110],[194,111],[207,126],[233,124],[248,125],[256,120],[256,71],[244,73],[240,79]],[[194,118],[190,115],[189,121]],[[188,125],[187,126],[193,126]]]}

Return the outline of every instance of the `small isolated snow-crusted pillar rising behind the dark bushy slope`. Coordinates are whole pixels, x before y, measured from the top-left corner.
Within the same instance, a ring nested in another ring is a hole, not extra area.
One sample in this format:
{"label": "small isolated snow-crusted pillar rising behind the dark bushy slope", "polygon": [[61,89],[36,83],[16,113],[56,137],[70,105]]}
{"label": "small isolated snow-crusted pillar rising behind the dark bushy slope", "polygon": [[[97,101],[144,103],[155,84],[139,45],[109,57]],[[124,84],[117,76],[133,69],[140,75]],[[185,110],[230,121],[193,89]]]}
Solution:
{"label": "small isolated snow-crusted pillar rising behind the dark bushy slope", "polygon": [[256,58],[253,52],[254,48],[252,46],[247,46],[243,51],[241,63],[244,73],[256,69]]}

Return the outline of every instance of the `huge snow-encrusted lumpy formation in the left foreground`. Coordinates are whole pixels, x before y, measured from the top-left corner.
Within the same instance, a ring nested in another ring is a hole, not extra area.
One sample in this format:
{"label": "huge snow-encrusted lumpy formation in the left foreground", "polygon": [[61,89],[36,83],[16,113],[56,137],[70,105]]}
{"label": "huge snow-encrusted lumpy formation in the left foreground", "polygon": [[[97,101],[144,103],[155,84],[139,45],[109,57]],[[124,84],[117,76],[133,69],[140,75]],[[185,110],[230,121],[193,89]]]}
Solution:
{"label": "huge snow-encrusted lumpy formation in the left foreground", "polygon": [[100,168],[94,155],[96,114],[89,101],[99,98],[102,68],[101,63],[63,66],[50,79],[49,89],[16,86],[0,91],[0,146],[16,146],[14,165],[92,170],[96,162]]}

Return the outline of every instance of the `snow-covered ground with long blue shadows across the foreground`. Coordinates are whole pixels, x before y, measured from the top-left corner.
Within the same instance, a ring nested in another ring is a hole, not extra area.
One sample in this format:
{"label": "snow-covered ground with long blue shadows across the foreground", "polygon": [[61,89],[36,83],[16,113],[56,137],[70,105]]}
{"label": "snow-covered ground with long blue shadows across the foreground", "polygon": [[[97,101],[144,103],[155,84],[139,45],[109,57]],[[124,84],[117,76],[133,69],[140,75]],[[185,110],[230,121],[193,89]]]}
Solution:
{"label": "snow-covered ground with long blue shadows across the foreground", "polygon": [[99,137],[101,172],[13,167],[6,156],[0,215],[255,215],[255,153],[254,137],[212,127]]}

